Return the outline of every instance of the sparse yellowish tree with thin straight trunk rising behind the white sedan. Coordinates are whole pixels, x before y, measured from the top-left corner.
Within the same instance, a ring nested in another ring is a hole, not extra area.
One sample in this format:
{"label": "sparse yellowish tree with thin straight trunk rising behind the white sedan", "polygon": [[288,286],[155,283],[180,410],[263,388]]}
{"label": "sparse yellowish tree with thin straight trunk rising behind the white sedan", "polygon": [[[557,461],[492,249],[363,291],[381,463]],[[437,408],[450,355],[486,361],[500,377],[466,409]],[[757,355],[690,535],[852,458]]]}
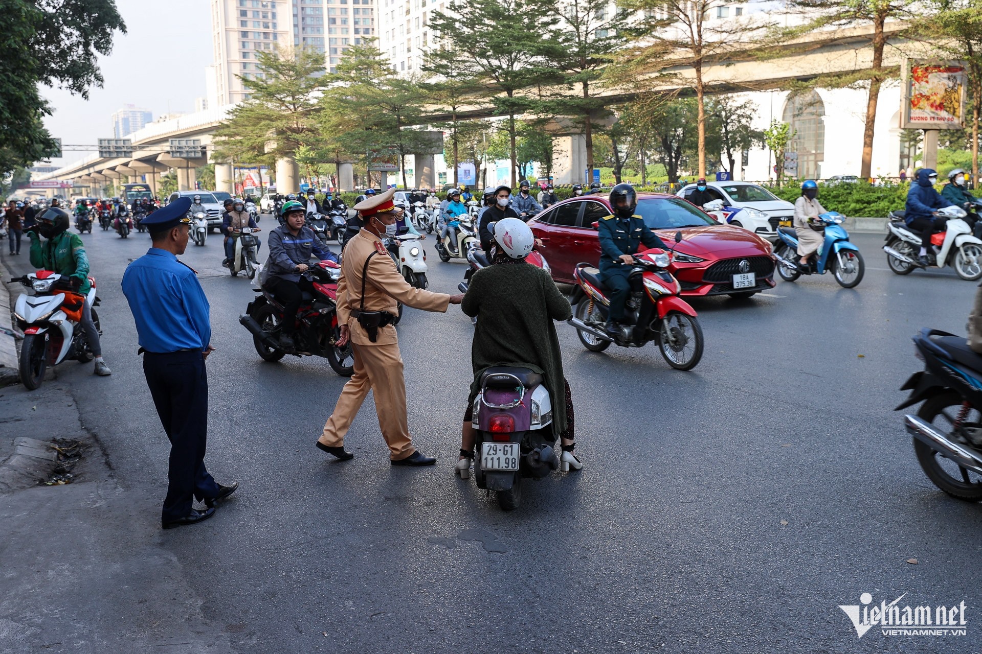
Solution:
{"label": "sparse yellowish tree with thin straight trunk rising behind the white sedan", "polygon": [[[668,75],[667,69],[683,69],[688,75],[670,75],[678,83],[691,86],[696,101],[696,149],[700,177],[706,176],[706,66],[727,60],[736,46],[753,47],[766,32],[760,17],[719,20],[728,0],[618,0],[626,9],[636,12],[631,47],[619,52],[617,60],[627,75],[643,80],[651,72],[648,84],[658,83]],[[833,0],[829,0],[832,2]],[[666,166],[666,168],[669,168]],[[671,175],[671,174],[670,174]]]}

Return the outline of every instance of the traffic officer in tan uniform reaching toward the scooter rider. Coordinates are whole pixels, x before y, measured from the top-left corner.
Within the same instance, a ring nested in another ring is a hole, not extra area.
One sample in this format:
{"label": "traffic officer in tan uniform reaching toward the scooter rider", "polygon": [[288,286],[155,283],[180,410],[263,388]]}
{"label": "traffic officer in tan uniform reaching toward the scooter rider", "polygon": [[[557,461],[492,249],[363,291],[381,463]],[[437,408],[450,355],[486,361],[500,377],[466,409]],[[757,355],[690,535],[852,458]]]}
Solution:
{"label": "traffic officer in tan uniform reaching toward the scooter rider", "polygon": [[380,239],[396,233],[400,209],[392,200],[395,192],[390,188],[355,205],[364,226],[345,246],[338,280],[338,324],[341,325],[338,345],[351,339],[355,375],[342,389],[316,445],[338,459],[355,456],[345,449],[345,434],[371,390],[392,465],[430,466],[436,459],[412,447],[403,359],[392,321],[399,312],[397,302],[424,311],[446,312],[448,304],[460,304],[464,295],[413,288],[396,270]]}

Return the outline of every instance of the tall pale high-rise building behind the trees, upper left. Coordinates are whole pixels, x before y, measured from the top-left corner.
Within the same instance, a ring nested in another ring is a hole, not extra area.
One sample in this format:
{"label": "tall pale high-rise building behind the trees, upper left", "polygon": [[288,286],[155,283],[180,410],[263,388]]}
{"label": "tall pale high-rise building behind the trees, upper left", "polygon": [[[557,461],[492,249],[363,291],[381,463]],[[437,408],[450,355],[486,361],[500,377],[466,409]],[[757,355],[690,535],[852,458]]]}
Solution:
{"label": "tall pale high-rise building behind the trees, upper left", "polygon": [[[331,73],[346,46],[375,35],[378,0],[211,0],[215,63],[208,72],[209,106],[248,99],[242,75],[256,71],[256,52],[306,46],[324,53]],[[291,33],[291,31],[293,33]]]}

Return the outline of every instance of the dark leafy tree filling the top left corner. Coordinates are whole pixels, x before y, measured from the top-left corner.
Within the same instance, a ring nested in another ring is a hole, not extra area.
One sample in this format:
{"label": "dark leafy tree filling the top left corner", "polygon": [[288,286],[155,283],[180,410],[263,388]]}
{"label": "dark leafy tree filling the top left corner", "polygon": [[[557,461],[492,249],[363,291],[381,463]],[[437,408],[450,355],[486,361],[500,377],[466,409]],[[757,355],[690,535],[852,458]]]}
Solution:
{"label": "dark leafy tree filling the top left corner", "polygon": [[88,98],[102,86],[98,55],[126,25],[113,0],[3,0],[0,41],[0,177],[57,153],[44,127],[51,114],[38,84]]}

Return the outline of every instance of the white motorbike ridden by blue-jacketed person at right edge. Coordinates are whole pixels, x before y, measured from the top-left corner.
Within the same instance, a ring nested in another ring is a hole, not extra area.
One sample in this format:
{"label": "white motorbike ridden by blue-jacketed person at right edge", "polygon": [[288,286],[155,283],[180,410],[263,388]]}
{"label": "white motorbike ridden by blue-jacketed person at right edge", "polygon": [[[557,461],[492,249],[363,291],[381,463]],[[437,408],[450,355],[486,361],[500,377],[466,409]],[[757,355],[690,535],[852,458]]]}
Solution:
{"label": "white motorbike ridden by blue-jacketed person at right edge", "polygon": [[[945,207],[939,209],[939,216],[948,217],[946,230],[936,233],[927,246],[927,256],[931,268],[951,266],[962,279],[975,281],[982,277],[982,240],[972,235],[972,229],[963,219],[966,214],[960,207]],[[907,275],[915,268],[923,268],[917,261],[920,252],[920,236],[909,229],[903,222],[904,212],[894,211],[890,214],[887,244],[883,251],[887,253],[887,265],[898,275]],[[940,249],[936,249],[940,247]]]}

